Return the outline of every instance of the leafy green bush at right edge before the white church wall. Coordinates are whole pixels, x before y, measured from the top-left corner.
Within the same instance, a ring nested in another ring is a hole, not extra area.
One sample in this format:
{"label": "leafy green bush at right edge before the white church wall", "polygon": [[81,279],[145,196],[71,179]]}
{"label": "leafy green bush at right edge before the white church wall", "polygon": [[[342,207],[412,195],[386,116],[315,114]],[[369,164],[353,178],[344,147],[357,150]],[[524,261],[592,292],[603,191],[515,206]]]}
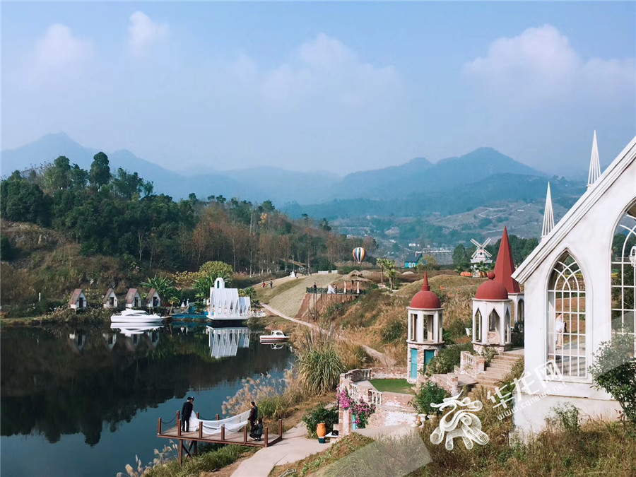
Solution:
{"label": "leafy green bush at right edge before the white church wall", "polygon": [[616,335],[612,341],[603,341],[594,353],[594,365],[589,372],[596,389],[605,389],[623,408],[625,417],[636,423],[636,358],[634,337]]}

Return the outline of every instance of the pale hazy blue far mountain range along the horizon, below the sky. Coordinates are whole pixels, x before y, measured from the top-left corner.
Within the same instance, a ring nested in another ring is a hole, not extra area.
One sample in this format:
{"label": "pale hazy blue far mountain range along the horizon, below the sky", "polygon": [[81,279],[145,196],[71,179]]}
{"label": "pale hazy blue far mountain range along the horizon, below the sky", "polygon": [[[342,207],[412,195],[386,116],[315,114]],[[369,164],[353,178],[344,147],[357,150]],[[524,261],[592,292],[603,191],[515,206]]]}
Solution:
{"label": "pale hazy blue far mountain range along the horizon, below the sky", "polygon": [[[543,172],[493,148],[479,148],[437,163],[415,158],[403,165],[353,172],[345,177],[324,171],[298,172],[266,166],[201,173],[193,173],[192,170],[175,172],[125,149],[105,152],[112,172],[118,167],[138,172],[141,177],[154,183],[155,192],[176,199],[187,197],[192,192],[202,199],[212,195],[227,198],[238,196],[251,201],[270,199],[279,207],[291,203],[290,210],[295,210],[298,204],[322,204],[347,199],[388,201],[382,207],[388,208],[388,204],[396,205],[399,203],[399,200],[395,202],[397,199],[406,196],[429,196],[436,191],[461,190],[467,184],[475,184],[494,175],[545,177]],[[66,155],[71,164],[77,163],[88,169],[95,153],[98,153],[98,149],[82,146],[64,133],[48,134],[33,143],[3,151],[0,173],[6,176],[13,170],[52,162],[59,155]],[[545,184],[545,179],[541,182]],[[493,195],[499,192],[493,191]],[[498,196],[497,199],[505,199],[505,196]],[[436,200],[433,202],[437,203]]]}

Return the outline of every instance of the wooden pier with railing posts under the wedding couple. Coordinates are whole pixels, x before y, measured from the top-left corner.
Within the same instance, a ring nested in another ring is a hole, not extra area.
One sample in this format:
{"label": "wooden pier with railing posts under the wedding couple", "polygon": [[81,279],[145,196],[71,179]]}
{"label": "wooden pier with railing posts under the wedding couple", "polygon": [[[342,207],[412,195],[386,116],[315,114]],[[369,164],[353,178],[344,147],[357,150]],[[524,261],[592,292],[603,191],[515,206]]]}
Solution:
{"label": "wooden pier with railing posts under the wedding couple", "polygon": [[[199,413],[196,413],[196,418],[199,418]],[[219,415],[216,415],[216,420],[219,420]],[[172,419],[171,419],[172,421]],[[247,433],[247,425],[243,428],[242,432],[230,432],[225,431],[225,425],[221,426],[220,434],[204,435],[201,423],[199,423],[199,429],[192,430],[190,432],[182,432],[181,430],[181,418],[179,411],[177,411],[177,425],[172,428],[163,429],[162,421],[159,418],[157,426],[157,437],[164,437],[165,439],[176,439],[179,441],[179,465],[183,462],[183,452],[185,451],[187,457],[196,455],[197,444],[199,442],[209,442],[210,444],[236,444],[246,445],[250,447],[269,447],[276,442],[283,439],[283,420],[278,419],[278,435],[270,440],[269,429],[263,426],[263,435],[261,440],[253,440]],[[184,441],[189,440],[190,444],[187,447]],[[192,454],[191,454],[192,452]]]}

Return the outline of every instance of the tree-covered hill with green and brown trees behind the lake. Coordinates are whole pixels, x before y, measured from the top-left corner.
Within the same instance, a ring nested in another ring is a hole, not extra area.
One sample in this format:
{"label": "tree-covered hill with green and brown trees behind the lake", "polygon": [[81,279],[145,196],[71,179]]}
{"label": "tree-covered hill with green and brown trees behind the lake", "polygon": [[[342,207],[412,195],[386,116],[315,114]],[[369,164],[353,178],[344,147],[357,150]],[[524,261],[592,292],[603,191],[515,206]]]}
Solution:
{"label": "tree-covered hill with green and brown trees behind the lake", "polygon": [[[112,255],[148,271],[195,270],[211,260],[247,273],[288,261],[328,269],[362,245],[332,231],[326,220],[292,220],[271,201],[194,194],[175,201],[155,194],[136,172],[110,170],[105,153],[95,154],[90,170],[60,156],[14,172],[0,184],[0,217],[54,228],[80,243],[86,256]],[[3,243],[6,259],[12,244],[6,237]],[[365,245],[372,252],[370,238]]]}

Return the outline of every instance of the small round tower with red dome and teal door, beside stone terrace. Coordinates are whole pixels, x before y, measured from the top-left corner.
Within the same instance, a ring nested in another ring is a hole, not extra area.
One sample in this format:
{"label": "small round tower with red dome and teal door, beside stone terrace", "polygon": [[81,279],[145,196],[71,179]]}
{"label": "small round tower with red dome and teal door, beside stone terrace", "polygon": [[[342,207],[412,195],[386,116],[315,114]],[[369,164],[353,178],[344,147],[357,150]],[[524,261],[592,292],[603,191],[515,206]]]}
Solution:
{"label": "small round tower with red dome and teal door, beside stone terrace", "polygon": [[406,335],[406,380],[418,382],[420,370],[436,356],[444,346],[442,326],[444,309],[440,298],[430,290],[428,273],[424,273],[422,289],[411,299],[408,310]]}

